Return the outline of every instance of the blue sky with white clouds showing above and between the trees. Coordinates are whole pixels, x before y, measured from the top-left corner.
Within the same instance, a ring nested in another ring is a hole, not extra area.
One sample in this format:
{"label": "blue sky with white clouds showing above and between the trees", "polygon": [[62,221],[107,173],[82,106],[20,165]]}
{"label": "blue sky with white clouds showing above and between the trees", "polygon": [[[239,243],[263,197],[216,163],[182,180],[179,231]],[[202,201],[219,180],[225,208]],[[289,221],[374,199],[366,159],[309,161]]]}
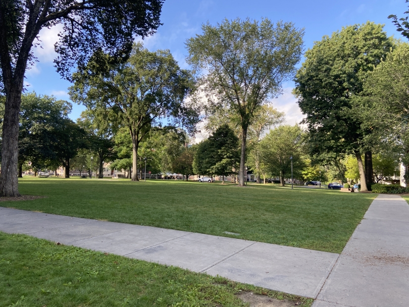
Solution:
{"label": "blue sky with white clouds showing above and between the trees", "polygon": [[[201,24],[221,22],[224,18],[247,18],[260,20],[267,17],[273,22],[277,20],[291,21],[298,28],[305,29],[305,48],[313,46],[314,41],[321,40],[324,35],[341,29],[343,26],[374,21],[385,24],[388,35],[400,38],[396,28],[387,17],[390,14],[403,16],[407,10],[404,0],[365,0],[365,1],[267,1],[267,0],[166,0],[161,21],[163,26],[158,32],[144,40],[150,50],[170,49],[182,68],[189,68],[185,62],[185,41],[187,38],[201,33]],[[69,100],[68,81],[62,80],[53,66],[55,58],[54,43],[59,29],[44,29],[40,32],[43,48],[37,48],[35,54],[39,59],[35,67],[26,73],[29,91],[37,94],[55,95],[58,99]],[[292,82],[284,84],[285,92],[273,100],[279,111],[287,114],[287,123],[294,124],[302,119],[295,98],[291,95]],[[76,120],[83,106],[73,105],[70,117]]]}

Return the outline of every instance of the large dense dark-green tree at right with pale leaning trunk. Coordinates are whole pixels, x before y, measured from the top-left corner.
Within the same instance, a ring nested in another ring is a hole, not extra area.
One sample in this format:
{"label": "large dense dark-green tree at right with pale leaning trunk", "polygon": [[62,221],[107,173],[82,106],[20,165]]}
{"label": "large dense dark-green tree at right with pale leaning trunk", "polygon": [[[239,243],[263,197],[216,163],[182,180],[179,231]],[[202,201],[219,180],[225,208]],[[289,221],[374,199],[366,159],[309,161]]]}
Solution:
{"label": "large dense dark-green tree at right with pale leaning trunk", "polygon": [[[305,53],[295,77],[298,105],[306,115],[313,153],[347,152],[356,157],[361,191],[367,191],[362,151],[370,151],[362,122],[354,116],[354,100],[363,83],[389,52],[392,42],[383,26],[372,22],[353,25],[324,36]],[[368,158],[370,158],[368,152]]]}

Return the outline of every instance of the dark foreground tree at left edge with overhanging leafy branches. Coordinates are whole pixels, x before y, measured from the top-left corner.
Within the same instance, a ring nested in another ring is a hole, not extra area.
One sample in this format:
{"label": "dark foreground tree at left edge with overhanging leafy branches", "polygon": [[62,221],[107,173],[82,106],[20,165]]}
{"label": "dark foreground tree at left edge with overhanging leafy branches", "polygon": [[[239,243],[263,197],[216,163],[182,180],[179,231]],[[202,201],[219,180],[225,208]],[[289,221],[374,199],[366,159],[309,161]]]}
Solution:
{"label": "dark foreground tree at left edge with overhanging leafy branches", "polygon": [[55,49],[57,71],[70,76],[95,50],[115,58],[131,52],[134,35],[154,33],[163,0],[0,1],[0,89],[6,93],[0,195],[18,196],[17,160],[21,93],[33,45],[42,28],[63,25]]}

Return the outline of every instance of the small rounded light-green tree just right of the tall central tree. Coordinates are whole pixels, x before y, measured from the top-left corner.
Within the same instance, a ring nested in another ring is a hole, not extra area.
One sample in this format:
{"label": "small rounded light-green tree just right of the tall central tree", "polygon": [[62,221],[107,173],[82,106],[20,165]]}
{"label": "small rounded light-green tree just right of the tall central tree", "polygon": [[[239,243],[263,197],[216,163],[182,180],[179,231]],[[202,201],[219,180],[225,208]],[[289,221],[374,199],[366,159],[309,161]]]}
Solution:
{"label": "small rounded light-green tree just right of the tall central tree", "polygon": [[269,173],[280,177],[282,186],[285,185],[285,178],[291,177],[291,157],[294,174],[299,174],[304,167],[302,144],[302,130],[298,125],[284,125],[270,130],[260,142],[260,161]]}

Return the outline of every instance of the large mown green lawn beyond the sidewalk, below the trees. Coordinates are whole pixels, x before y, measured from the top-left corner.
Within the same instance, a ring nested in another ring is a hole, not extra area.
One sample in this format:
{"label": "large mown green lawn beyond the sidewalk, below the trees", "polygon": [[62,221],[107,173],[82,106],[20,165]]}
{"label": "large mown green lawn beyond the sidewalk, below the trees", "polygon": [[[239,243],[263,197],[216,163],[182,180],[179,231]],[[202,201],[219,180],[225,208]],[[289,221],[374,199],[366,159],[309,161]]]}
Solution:
{"label": "large mown green lawn beyond the sidewalk, below the trees", "polygon": [[0,206],[341,252],[375,194],[198,182],[23,178]]}

